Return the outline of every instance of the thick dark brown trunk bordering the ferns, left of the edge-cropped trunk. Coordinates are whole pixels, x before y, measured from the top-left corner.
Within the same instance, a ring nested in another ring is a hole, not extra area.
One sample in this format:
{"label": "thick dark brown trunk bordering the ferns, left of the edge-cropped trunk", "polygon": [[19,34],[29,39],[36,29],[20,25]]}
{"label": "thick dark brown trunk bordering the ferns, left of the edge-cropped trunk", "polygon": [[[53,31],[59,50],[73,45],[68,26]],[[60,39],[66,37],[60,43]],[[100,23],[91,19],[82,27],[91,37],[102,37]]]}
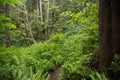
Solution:
{"label": "thick dark brown trunk bordering the ferns, left of the edge-cropped trunk", "polygon": [[111,0],[99,0],[99,13],[99,68],[107,77],[111,77],[112,73],[109,68],[114,56],[112,51]]}

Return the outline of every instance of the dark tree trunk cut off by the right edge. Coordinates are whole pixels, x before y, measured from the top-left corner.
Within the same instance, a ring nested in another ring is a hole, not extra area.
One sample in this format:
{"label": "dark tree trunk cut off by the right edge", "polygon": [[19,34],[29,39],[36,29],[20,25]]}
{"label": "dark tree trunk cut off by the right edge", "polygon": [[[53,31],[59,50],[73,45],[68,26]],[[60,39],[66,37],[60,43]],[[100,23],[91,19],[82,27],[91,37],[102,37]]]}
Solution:
{"label": "dark tree trunk cut off by the right edge", "polygon": [[114,54],[120,54],[120,0],[112,0],[112,40]]}

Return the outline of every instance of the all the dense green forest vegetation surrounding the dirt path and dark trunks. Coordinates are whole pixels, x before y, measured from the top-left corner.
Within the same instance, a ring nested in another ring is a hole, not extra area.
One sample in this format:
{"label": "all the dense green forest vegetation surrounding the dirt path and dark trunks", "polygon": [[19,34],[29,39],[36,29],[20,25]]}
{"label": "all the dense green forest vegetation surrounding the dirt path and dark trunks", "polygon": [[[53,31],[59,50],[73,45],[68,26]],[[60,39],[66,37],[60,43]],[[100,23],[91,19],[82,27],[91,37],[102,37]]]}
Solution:
{"label": "all the dense green forest vegetation surrounding the dirt path and dark trunks", "polygon": [[[43,0],[43,21],[32,7],[40,0],[21,1],[0,1],[0,80],[49,80],[59,66],[60,80],[109,80],[98,68],[97,1]],[[8,4],[10,17],[4,14]],[[119,60],[116,55],[110,66],[114,79]]]}

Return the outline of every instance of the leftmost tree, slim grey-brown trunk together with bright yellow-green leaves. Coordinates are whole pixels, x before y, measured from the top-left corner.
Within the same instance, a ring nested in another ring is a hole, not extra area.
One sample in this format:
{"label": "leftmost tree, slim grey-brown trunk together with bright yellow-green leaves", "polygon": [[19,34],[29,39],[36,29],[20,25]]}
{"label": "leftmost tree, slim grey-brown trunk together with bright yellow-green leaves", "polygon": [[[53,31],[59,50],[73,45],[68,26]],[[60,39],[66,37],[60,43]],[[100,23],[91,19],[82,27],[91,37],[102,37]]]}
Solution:
{"label": "leftmost tree, slim grey-brown trunk together with bright yellow-green leaves", "polygon": [[1,0],[0,1],[0,5],[5,5],[5,16],[3,15],[4,13],[2,13],[0,15],[0,25],[2,27],[5,27],[6,31],[5,31],[5,38],[6,38],[6,47],[10,47],[11,45],[11,36],[10,36],[10,29],[15,27],[14,24],[12,24],[10,22],[10,6],[15,6],[16,4],[22,4],[19,0]]}

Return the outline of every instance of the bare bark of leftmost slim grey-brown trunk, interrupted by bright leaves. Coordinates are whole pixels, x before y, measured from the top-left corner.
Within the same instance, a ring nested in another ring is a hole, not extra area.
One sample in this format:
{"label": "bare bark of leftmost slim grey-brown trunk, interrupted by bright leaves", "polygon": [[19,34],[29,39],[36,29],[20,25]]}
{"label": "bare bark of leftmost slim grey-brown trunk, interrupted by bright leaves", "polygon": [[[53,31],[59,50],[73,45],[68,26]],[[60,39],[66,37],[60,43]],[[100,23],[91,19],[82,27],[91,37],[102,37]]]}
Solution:
{"label": "bare bark of leftmost slim grey-brown trunk, interrupted by bright leaves", "polygon": [[[8,4],[5,5],[5,15],[6,17],[10,17],[10,6]],[[11,45],[10,28],[6,27],[6,47],[10,47],[10,45]]]}

